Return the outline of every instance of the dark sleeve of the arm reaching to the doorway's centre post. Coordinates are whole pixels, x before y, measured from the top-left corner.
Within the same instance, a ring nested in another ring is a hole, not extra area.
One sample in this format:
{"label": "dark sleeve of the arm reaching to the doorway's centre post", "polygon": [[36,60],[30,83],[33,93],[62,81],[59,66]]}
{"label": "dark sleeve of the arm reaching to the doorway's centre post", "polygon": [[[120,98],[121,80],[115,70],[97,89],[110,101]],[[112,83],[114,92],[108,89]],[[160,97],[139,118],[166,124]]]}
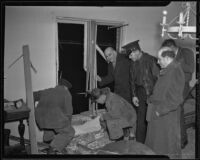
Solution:
{"label": "dark sleeve of the arm reaching to the doorway's centre post", "polygon": [[114,81],[114,74],[110,65],[112,64],[108,65],[108,74],[105,77],[101,77],[101,82],[99,82],[99,86],[105,86]]}

